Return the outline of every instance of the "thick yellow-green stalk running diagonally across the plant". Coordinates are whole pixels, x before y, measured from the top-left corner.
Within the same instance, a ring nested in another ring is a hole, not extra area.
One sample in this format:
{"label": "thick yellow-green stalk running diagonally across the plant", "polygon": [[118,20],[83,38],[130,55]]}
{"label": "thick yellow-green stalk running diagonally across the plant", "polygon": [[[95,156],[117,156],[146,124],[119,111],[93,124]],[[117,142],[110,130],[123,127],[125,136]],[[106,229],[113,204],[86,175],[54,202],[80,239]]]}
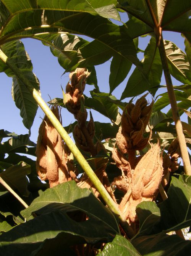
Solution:
{"label": "thick yellow-green stalk running diagonally across the plant", "polygon": [[65,141],[68,148],[73,153],[74,157],[78,161],[78,163],[83,168],[84,172],[87,174],[91,182],[94,184],[97,191],[100,193],[102,198],[104,199],[105,203],[107,204],[108,208],[112,210],[114,213],[119,215],[121,226],[123,227],[124,231],[127,233],[129,238],[132,238],[134,236],[134,232],[132,228],[128,225],[128,222],[123,218],[120,210],[118,209],[118,205],[112,200],[110,195],[108,194],[107,190],[103,186],[103,184],[100,182],[99,178],[95,175],[92,168],[87,163],[86,159],[83,157],[79,149],[76,147],[74,142],[71,140],[70,136],[66,132],[66,130],[62,127],[58,119],[55,117],[55,115],[52,113],[52,111],[49,109],[45,101],[40,96],[39,92],[34,89],[30,83],[30,81],[23,75],[23,73],[14,65],[12,64],[8,57],[3,53],[2,50],[0,50],[0,59],[2,59],[3,62],[5,62],[9,68],[14,72],[16,77],[20,79],[23,84],[28,88],[28,90],[32,93],[34,99],[39,104],[41,109],[44,111],[46,116],[49,118],[50,122],[52,122],[55,129],[57,129],[58,133],[62,137],[62,139]]}

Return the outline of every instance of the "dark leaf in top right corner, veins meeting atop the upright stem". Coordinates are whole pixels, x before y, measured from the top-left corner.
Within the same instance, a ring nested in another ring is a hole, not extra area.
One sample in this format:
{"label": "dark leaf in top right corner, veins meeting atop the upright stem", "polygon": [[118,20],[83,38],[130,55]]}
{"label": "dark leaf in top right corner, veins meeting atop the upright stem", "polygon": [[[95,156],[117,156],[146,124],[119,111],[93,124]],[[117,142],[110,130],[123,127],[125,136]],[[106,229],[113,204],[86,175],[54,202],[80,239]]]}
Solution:
{"label": "dark leaf in top right corner, veins meeting atop the upright stem", "polygon": [[[154,32],[155,24],[147,1],[119,0],[118,3],[117,7],[130,14],[126,25],[132,38]],[[160,0],[150,1],[150,4],[155,21],[163,30],[183,33],[191,42],[190,0]]]}

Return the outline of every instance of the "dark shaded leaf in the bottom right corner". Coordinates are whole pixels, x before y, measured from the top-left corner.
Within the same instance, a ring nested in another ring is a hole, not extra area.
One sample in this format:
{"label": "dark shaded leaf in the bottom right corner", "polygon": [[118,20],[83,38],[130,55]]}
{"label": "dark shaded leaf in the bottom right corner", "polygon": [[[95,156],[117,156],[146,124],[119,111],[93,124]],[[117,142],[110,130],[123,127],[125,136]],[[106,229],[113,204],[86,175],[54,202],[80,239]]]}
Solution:
{"label": "dark shaded leaf in the bottom right corner", "polygon": [[142,256],[178,256],[189,255],[191,241],[185,241],[177,235],[141,236],[133,239],[132,244]]}

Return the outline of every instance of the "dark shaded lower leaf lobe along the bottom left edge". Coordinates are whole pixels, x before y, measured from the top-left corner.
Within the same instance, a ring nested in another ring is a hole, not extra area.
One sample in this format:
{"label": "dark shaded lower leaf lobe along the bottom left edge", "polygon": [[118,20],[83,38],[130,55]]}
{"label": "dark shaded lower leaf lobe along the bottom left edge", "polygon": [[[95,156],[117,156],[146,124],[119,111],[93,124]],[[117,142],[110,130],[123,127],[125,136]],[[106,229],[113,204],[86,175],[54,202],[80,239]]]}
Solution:
{"label": "dark shaded lower leaf lobe along the bottom left edge", "polygon": [[63,211],[54,210],[2,234],[0,247],[2,255],[39,255],[36,253],[47,246],[49,252],[45,255],[58,255],[58,251],[74,244],[107,242],[108,233],[116,232],[93,215],[87,221],[77,222]]}

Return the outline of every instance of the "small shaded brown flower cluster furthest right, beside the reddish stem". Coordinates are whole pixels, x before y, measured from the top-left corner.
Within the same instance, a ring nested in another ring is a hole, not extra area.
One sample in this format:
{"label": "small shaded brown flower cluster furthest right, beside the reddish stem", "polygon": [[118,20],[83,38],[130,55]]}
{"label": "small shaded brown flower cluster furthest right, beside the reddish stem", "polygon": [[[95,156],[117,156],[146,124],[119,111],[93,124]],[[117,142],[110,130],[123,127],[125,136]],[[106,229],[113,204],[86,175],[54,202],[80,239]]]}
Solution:
{"label": "small shaded brown flower cluster furthest right, beside the reddish stem", "polygon": [[170,172],[175,172],[176,170],[178,170],[178,157],[181,157],[181,153],[178,138],[176,138],[171,142],[170,146],[168,147],[167,154],[163,157],[163,187],[165,187],[168,184]]}

